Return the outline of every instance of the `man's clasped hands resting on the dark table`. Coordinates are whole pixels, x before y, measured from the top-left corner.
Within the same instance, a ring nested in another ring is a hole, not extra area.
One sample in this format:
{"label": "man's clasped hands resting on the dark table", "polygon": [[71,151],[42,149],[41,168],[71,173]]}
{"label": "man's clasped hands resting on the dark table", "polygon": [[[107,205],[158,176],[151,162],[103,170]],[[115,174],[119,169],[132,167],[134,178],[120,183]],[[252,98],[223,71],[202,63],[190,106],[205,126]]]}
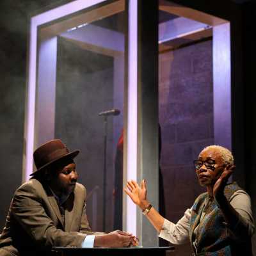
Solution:
{"label": "man's clasped hands resting on the dark table", "polygon": [[106,235],[95,236],[94,247],[129,247],[138,245],[138,239],[124,231],[115,230]]}

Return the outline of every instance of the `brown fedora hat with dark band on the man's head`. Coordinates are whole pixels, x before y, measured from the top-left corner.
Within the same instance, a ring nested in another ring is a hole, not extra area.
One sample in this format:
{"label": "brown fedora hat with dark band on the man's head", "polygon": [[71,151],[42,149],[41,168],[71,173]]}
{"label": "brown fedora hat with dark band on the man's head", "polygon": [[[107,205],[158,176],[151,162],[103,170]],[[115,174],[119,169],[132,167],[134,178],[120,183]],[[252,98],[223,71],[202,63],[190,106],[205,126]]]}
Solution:
{"label": "brown fedora hat with dark band on the man's head", "polygon": [[69,152],[68,148],[61,140],[47,141],[47,143],[38,147],[33,154],[36,170],[31,173],[31,175],[35,175],[60,159],[66,157],[73,159],[79,152],[80,150]]}

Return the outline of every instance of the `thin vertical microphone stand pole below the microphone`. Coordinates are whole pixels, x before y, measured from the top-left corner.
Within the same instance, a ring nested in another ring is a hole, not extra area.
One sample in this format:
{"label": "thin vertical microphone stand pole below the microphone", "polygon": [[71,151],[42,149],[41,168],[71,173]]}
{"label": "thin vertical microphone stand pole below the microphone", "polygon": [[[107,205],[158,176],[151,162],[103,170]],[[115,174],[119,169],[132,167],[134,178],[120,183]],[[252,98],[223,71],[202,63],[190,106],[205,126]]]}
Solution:
{"label": "thin vertical microphone stand pole below the microphone", "polygon": [[106,231],[106,201],[107,201],[107,138],[108,138],[108,115],[104,116],[104,166],[103,166],[103,231]]}

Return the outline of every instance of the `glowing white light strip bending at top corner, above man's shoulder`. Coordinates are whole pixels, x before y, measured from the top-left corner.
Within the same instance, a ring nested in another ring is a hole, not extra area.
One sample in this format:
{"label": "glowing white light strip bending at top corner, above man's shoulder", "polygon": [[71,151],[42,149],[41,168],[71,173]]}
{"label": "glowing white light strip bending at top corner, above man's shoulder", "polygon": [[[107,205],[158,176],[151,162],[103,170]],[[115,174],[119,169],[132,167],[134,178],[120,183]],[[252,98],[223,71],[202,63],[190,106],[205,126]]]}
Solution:
{"label": "glowing white light strip bending at top corner, above man's shoulder", "polygon": [[29,40],[29,74],[28,74],[28,97],[27,97],[27,120],[26,120],[26,158],[25,170],[22,175],[22,182],[29,179],[29,174],[33,171],[33,150],[34,150],[34,132],[35,132],[35,99],[36,99],[36,44],[37,27],[59,19],[71,13],[78,12],[106,0],[76,0],[41,13],[31,18],[30,40]]}

